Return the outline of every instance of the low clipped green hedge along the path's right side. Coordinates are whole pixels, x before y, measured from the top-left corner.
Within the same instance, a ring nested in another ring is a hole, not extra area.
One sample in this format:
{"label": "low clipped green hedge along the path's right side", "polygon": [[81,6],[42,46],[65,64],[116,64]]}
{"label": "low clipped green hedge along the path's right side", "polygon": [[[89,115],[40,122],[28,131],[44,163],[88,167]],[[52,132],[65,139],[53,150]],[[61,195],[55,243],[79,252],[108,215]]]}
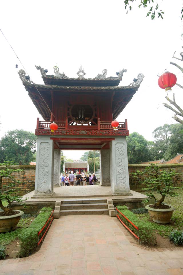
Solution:
{"label": "low clipped green hedge along the path's right side", "polygon": [[[154,230],[149,226],[148,222],[141,221],[138,219],[137,215],[128,210],[126,206],[117,206],[118,210],[123,213],[134,225],[136,225],[139,229],[139,241],[142,244],[148,246],[156,245],[156,235]],[[137,234],[137,229],[127,221],[119,212],[117,212],[120,219],[134,232]]]}

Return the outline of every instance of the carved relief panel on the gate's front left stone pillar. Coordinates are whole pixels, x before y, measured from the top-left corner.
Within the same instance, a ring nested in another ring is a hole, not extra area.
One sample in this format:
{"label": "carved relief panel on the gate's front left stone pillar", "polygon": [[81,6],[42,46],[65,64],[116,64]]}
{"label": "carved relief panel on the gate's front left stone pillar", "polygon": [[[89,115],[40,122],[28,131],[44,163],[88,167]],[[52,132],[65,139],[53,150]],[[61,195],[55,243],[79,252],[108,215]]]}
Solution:
{"label": "carved relief panel on the gate's front left stone pillar", "polygon": [[[40,193],[48,193],[49,192],[49,183],[48,183],[48,175],[49,175],[49,143],[41,142],[39,148],[39,166],[38,166],[38,185],[37,191]],[[51,191],[51,190],[50,190]]]}

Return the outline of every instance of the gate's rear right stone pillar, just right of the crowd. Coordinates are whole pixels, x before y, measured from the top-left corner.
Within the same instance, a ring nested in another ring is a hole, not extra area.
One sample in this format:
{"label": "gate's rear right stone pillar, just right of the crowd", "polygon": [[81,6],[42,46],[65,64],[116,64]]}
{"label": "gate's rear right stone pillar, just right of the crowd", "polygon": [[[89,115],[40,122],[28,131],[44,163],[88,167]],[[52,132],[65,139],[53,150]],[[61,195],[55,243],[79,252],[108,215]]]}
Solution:
{"label": "gate's rear right stone pillar, just right of the crowd", "polygon": [[110,186],[110,152],[109,149],[100,150],[100,184]]}

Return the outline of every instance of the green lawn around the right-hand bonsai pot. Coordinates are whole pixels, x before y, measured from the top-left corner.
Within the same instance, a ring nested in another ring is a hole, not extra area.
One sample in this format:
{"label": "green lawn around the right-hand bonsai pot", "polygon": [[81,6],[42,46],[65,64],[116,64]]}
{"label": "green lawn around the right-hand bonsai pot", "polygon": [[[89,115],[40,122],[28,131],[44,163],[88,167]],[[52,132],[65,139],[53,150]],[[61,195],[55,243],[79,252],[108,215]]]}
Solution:
{"label": "green lawn around the right-hand bonsai pot", "polygon": [[[170,204],[176,208],[176,210],[173,211],[171,223],[161,225],[158,223],[154,223],[148,213],[136,214],[138,215],[139,219],[142,219],[143,221],[149,221],[149,226],[152,227],[156,231],[156,233],[160,234],[163,237],[168,237],[170,232],[175,229],[183,230],[183,190],[176,190],[176,193],[179,194],[178,197],[168,196],[164,200],[164,203]],[[155,192],[153,194],[157,199],[160,197],[160,195]]]}

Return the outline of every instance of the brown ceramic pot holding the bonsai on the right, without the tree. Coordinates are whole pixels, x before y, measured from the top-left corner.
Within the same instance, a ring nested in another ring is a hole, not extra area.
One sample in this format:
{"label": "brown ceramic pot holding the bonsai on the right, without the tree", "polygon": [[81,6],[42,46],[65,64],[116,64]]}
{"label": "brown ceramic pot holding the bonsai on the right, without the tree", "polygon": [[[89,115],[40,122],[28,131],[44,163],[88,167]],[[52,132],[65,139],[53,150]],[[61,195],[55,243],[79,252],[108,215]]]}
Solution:
{"label": "brown ceramic pot holding the bonsai on the right, without the tree", "polygon": [[152,204],[146,205],[145,208],[148,209],[149,215],[155,223],[170,223],[173,211],[175,210],[173,206],[169,205],[171,208],[168,209],[155,209],[149,207],[150,205]]}

